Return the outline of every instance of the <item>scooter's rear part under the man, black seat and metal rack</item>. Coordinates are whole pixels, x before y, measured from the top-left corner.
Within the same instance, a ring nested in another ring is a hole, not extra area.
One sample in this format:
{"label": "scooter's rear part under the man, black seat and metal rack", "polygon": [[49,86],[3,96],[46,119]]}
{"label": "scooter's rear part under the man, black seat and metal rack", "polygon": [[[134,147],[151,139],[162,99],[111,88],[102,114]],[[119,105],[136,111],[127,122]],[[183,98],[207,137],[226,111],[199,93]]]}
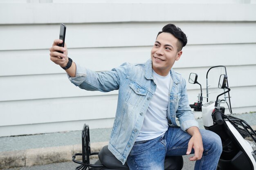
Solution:
{"label": "scooter's rear part under the man, black seat and metal rack", "polygon": [[[154,154],[154,153],[152,153]],[[99,159],[90,163],[90,156],[98,155]],[[82,161],[76,160],[76,156],[82,156]],[[145,158],[147,159],[147,158]],[[104,146],[100,152],[91,152],[89,126],[84,124],[82,130],[82,153],[75,153],[72,161],[80,164],[75,170],[129,170],[127,163],[124,165]],[[164,170],[181,170],[183,167],[182,156],[165,157]]]}

